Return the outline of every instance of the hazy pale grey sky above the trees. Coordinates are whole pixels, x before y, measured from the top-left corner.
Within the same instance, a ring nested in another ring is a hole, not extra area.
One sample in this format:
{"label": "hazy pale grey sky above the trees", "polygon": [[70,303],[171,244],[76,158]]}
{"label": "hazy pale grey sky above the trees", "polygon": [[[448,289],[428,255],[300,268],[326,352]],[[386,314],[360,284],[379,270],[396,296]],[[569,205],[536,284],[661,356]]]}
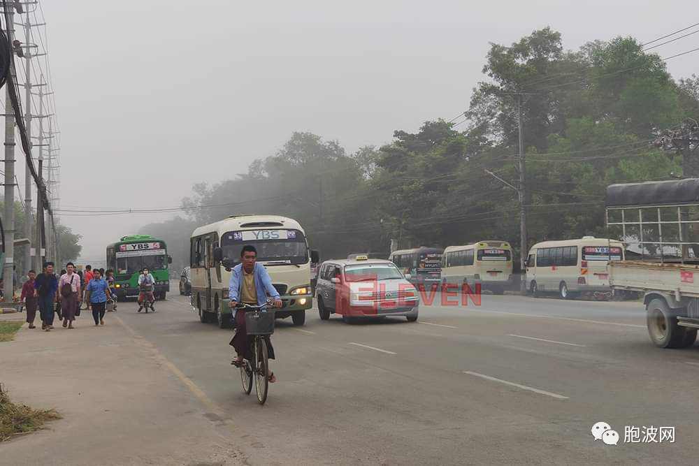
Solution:
{"label": "hazy pale grey sky above the trees", "polygon": [[[179,206],[192,184],[244,173],[293,131],[354,151],[452,119],[484,79],[489,42],[550,26],[576,49],[619,35],[650,41],[696,22],[668,14],[686,8],[680,1],[41,1],[64,209]],[[698,37],[654,51],[684,52]],[[688,77],[697,55],[668,70]],[[17,172],[23,182],[19,163]],[[85,263],[171,216],[62,222],[83,235]]]}

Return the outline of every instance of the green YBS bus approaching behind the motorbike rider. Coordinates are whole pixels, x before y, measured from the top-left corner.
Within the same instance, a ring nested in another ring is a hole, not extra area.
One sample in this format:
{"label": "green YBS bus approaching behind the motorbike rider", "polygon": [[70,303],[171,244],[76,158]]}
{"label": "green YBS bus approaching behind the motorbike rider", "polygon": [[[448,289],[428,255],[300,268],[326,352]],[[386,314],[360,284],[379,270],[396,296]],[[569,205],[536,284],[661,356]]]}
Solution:
{"label": "green YBS bus approaching behind the motorbike rider", "polygon": [[117,297],[138,296],[138,275],[147,268],[155,279],[155,298],[165,299],[170,291],[167,246],[150,235],[124,236],[107,246],[107,268],[114,270]]}

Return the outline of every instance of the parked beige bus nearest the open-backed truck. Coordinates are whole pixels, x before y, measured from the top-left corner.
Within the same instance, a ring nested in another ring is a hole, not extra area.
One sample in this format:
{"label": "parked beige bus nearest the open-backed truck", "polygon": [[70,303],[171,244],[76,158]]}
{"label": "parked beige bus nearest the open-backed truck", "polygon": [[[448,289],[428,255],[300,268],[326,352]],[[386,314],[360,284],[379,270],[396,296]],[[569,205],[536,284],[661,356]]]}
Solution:
{"label": "parked beige bus nearest the open-backed truck", "polygon": [[527,289],[532,296],[558,293],[563,299],[587,291],[610,293],[609,263],[623,259],[624,244],[617,240],[583,236],[540,242],[529,249]]}

